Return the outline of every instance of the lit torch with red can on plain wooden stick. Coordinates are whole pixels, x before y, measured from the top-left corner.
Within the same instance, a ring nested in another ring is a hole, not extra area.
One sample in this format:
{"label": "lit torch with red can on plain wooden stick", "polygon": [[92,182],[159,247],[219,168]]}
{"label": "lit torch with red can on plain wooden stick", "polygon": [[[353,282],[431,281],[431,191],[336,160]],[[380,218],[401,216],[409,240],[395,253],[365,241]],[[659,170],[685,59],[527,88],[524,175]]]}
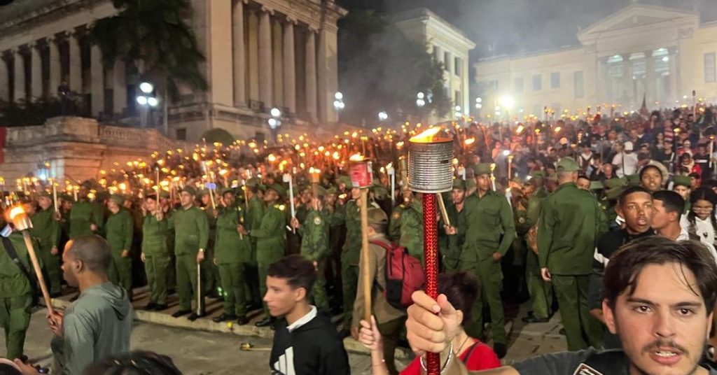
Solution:
{"label": "lit torch with red can on plain wooden stick", "polygon": [[361,281],[364,283],[364,320],[371,321],[371,279],[369,278],[369,186],[374,181],[371,176],[371,163],[364,156],[356,154],[348,159],[350,162],[351,186],[361,191],[359,211],[361,213]]}

